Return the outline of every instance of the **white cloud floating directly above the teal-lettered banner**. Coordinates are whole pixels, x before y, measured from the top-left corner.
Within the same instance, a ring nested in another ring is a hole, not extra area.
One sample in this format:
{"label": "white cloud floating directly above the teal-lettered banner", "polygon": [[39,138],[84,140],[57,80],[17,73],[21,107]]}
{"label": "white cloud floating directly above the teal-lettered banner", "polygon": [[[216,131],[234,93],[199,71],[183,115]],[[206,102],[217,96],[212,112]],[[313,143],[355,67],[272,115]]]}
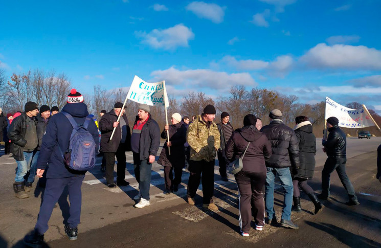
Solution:
{"label": "white cloud floating directly above the teal-lettered banner", "polygon": [[177,47],[188,47],[188,41],[194,38],[192,30],[183,24],[177,24],[168,29],[154,29],[148,34],[142,31],[135,32],[142,38],[142,43],[154,49],[175,50]]}

